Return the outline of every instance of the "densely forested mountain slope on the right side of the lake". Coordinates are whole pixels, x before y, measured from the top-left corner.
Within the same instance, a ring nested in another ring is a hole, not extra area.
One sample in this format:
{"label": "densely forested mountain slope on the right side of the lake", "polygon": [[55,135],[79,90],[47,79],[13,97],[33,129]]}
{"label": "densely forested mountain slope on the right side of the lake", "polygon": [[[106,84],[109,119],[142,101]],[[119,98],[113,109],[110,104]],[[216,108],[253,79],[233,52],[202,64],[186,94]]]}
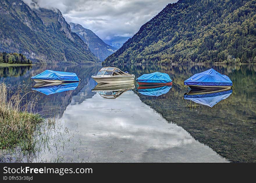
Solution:
{"label": "densely forested mountain slope on the right side of the lake", "polygon": [[179,0],[104,63],[256,63],[255,25],[255,0]]}

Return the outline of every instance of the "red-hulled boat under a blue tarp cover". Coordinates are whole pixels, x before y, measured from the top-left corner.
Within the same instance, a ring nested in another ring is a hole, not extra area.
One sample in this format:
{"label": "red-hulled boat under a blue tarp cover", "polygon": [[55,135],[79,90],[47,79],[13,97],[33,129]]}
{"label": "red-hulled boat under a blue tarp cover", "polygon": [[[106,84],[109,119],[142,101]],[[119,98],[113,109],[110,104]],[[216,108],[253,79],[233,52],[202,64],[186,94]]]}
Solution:
{"label": "red-hulled boat under a blue tarp cover", "polygon": [[162,72],[153,72],[150,74],[143,74],[138,77],[137,82],[139,85],[162,85],[163,83],[172,85],[170,76]]}

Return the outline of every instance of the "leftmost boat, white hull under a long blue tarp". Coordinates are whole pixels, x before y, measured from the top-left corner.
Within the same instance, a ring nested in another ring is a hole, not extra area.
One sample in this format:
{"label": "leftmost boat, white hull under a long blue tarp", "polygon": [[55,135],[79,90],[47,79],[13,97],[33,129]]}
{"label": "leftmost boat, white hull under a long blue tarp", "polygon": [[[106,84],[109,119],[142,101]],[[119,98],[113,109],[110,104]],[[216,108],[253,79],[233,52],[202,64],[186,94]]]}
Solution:
{"label": "leftmost boat, white hull under a long blue tarp", "polygon": [[45,70],[40,74],[32,76],[31,79],[33,79],[36,83],[79,82],[79,78],[77,77],[76,73],[52,70]]}

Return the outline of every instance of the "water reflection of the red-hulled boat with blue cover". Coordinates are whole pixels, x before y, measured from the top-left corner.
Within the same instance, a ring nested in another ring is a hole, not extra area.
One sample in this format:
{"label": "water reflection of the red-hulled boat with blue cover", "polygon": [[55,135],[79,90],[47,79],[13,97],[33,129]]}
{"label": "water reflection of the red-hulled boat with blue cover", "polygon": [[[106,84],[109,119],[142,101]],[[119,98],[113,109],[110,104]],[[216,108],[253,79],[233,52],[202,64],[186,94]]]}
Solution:
{"label": "water reflection of the red-hulled boat with blue cover", "polygon": [[160,96],[169,92],[172,85],[139,85],[136,91],[147,96]]}

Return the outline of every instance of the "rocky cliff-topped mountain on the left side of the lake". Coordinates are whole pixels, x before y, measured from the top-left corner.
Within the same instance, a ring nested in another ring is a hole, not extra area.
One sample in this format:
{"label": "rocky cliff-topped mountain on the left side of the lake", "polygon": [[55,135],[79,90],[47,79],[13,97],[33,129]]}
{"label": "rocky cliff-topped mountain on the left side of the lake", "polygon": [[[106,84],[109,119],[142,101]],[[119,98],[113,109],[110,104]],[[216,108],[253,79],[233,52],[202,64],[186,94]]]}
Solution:
{"label": "rocky cliff-topped mountain on the left side of the lake", "polygon": [[99,62],[59,10],[31,9],[21,0],[0,1],[0,52],[24,54],[33,63]]}

